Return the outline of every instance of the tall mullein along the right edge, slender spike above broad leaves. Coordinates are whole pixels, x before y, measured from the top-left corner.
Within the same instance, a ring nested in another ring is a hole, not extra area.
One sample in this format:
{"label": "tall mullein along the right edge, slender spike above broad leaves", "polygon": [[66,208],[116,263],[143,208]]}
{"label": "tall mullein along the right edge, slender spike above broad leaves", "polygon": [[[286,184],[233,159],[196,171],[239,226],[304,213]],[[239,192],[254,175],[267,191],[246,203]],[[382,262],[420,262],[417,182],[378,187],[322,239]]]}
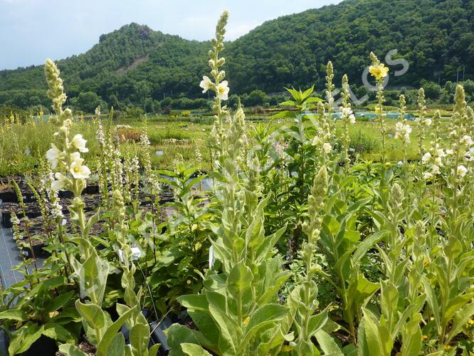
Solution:
{"label": "tall mullein along the right edge, slender spike above broad leaves", "polygon": [[452,152],[448,152],[447,166],[451,169],[451,176],[445,189],[448,206],[445,219],[440,221],[446,232],[445,237],[439,238],[438,244],[426,256],[431,273],[422,278],[431,318],[423,333],[437,335],[439,352],[451,349],[453,338],[463,331],[474,314],[473,216],[466,209],[468,204],[460,194],[466,184],[463,159],[471,144],[467,135],[469,125],[465,93],[458,85],[449,127],[452,147],[449,150]]}

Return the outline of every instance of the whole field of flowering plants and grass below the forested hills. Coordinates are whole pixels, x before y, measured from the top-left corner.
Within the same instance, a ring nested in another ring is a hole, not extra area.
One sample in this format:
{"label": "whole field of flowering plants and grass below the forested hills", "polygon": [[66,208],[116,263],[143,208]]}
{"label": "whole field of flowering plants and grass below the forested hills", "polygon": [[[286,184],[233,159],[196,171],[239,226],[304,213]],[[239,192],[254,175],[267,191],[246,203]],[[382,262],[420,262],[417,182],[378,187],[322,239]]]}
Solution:
{"label": "whole field of flowering plants and grass below the forested hills", "polygon": [[347,75],[336,104],[331,62],[324,99],[288,88],[246,120],[226,106],[227,19],[199,84],[210,118],[80,117],[48,60],[54,115],[4,119],[2,231],[23,275],[0,290],[6,355],[473,355],[463,86],[443,117],[421,88],[416,120],[404,95],[389,120],[371,53],[373,121]]}

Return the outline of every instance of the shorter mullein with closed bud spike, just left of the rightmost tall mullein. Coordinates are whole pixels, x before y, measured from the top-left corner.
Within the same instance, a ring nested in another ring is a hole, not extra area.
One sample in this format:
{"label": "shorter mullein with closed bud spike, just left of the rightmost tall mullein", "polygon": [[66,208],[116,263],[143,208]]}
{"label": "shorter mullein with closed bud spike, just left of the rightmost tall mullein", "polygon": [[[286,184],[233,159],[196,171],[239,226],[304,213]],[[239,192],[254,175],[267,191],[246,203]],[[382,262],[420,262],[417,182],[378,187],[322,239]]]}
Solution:
{"label": "shorter mullein with closed bud spike, just left of the rightmost tall mullein", "polygon": [[[417,253],[413,262],[415,268],[418,268],[416,270],[418,274],[412,273],[411,279],[407,278],[410,262],[408,239],[400,231],[406,209],[404,209],[404,192],[398,183],[391,185],[388,206],[388,216],[379,214],[377,217],[379,229],[387,231],[384,235],[384,248],[377,246],[384,262],[386,276],[385,280],[380,281],[381,315],[378,317],[369,308],[363,308],[364,318],[359,325],[359,354],[389,356],[394,350],[396,340],[403,335],[402,355],[418,355],[421,350],[421,337],[416,339],[410,333],[406,333],[406,330],[415,331],[415,335],[421,336],[419,313],[426,298],[424,294],[418,294],[420,276],[423,272],[423,256],[421,256],[423,244],[422,241],[417,241],[421,245],[414,247]],[[414,281],[415,285],[411,283]],[[400,308],[401,305],[403,308]]]}

